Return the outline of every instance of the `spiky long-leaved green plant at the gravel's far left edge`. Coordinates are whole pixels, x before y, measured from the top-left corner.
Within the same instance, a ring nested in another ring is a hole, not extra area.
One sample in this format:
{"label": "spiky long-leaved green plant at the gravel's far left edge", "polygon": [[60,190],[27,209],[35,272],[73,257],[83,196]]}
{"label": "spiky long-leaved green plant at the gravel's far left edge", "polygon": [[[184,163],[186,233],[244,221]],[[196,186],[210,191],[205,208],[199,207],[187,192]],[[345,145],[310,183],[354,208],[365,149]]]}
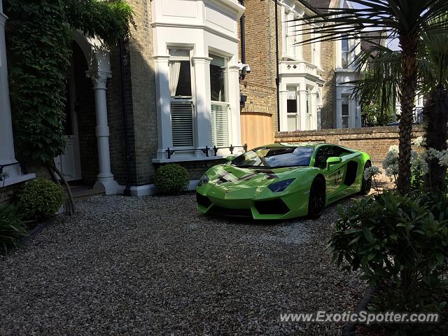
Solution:
{"label": "spiky long-leaved green plant at the gravel's far left edge", "polygon": [[16,240],[27,235],[25,223],[16,207],[9,205],[0,207],[0,253],[15,246]]}

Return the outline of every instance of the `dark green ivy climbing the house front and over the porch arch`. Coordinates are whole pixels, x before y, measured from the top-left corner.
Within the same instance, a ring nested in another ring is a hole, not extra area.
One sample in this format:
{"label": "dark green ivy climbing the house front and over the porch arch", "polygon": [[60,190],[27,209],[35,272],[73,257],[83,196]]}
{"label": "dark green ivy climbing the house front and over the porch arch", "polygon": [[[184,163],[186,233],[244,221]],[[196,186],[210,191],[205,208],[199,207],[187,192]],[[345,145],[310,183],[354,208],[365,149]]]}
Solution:
{"label": "dark green ivy climbing the house front and over the porch arch", "polygon": [[64,152],[66,74],[73,30],[114,43],[129,36],[123,0],[6,0],[15,145],[21,162],[49,165]]}

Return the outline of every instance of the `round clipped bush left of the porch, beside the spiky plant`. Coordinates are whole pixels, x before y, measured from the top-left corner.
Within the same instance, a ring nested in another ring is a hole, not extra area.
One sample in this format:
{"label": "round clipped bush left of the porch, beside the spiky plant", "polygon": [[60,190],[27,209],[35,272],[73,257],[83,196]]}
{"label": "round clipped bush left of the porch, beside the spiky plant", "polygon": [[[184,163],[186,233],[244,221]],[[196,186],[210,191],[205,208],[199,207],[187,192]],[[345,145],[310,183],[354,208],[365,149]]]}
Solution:
{"label": "round clipped bush left of the porch, beside the spiky plant", "polygon": [[25,218],[44,220],[54,215],[64,202],[64,191],[47,179],[34,179],[16,193]]}

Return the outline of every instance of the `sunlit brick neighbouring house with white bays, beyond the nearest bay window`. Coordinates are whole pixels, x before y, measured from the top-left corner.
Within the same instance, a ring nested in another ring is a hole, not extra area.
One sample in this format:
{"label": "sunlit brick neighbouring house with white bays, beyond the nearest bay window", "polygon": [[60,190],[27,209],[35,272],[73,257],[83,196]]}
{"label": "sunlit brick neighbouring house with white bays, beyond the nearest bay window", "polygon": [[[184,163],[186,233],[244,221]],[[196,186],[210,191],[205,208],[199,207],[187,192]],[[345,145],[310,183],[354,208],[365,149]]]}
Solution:
{"label": "sunlit brick neighbouring house with white bays, beyond the nearest bay window", "polygon": [[[351,7],[347,0],[244,0],[245,60],[251,73],[241,82],[242,141],[260,145],[277,131],[360,127],[360,104],[351,97],[356,79],[353,59],[359,41],[301,41],[317,38],[321,25],[295,21],[328,8]],[[264,29],[259,29],[264,27]],[[276,104],[276,34],[279,41],[279,111]],[[309,30],[311,29],[311,30]],[[243,55],[241,55],[243,57]],[[263,130],[264,137],[260,137]],[[249,146],[251,147],[251,146]]]}

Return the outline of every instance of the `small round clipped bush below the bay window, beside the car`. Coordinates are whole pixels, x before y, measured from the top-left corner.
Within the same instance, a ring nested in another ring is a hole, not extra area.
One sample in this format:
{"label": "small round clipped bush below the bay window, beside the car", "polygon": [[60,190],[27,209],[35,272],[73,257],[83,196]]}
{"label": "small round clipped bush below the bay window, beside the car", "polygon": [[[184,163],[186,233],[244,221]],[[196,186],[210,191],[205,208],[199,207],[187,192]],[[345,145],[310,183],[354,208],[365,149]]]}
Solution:
{"label": "small round clipped bush below the bay window, beside the car", "polygon": [[165,165],[155,172],[155,186],[164,195],[179,194],[187,190],[188,183],[190,183],[190,176],[187,169],[179,165]]}

